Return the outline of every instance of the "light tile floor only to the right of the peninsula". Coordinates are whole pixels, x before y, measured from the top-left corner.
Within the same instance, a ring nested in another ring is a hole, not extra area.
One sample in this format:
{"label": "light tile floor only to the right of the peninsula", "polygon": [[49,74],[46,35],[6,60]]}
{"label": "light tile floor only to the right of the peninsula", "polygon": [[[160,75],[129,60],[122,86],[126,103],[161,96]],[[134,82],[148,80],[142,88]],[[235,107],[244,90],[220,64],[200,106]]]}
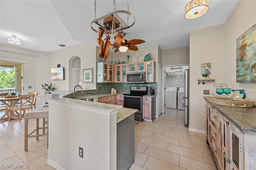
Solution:
{"label": "light tile floor only to the right of the peninsula", "polygon": [[184,111],[166,109],[135,126],[135,161],[130,170],[218,170],[205,134],[188,131]]}

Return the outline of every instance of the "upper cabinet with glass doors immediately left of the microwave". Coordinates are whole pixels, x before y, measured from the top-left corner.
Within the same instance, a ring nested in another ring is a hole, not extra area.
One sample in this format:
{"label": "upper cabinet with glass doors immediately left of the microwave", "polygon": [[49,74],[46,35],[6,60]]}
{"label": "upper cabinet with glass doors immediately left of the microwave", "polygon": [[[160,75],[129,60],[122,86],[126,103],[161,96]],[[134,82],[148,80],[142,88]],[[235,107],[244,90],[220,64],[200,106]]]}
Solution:
{"label": "upper cabinet with glass doors immediately left of the microwave", "polygon": [[126,74],[127,74],[127,64],[117,64],[114,65],[115,70],[115,82],[117,83],[125,83],[126,82]]}

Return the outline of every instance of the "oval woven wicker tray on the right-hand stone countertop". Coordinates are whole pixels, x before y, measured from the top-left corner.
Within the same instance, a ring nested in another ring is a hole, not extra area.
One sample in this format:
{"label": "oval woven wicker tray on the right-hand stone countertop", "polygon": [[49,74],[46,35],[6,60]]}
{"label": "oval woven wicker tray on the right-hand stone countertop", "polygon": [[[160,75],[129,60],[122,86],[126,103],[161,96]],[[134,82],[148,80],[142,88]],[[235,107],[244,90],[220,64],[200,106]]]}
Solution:
{"label": "oval woven wicker tray on the right-hand stone countertop", "polygon": [[228,107],[253,107],[253,101],[250,99],[236,98],[214,98],[213,102],[221,106]]}

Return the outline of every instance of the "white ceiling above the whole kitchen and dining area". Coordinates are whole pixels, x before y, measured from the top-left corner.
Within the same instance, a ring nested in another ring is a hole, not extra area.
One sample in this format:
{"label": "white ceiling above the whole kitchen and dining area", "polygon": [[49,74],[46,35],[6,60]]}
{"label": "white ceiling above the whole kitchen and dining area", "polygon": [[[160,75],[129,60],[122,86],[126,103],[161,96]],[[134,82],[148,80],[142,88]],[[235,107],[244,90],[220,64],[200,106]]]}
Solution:
{"label": "white ceiling above the whole kitchen and dining area", "polygon": [[[189,46],[190,31],[220,25],[239,0],[209,0],[203,16],[188,20],[184,8],[189,0],[116,0],[116,10],[127,10],[135,24],[124,30],[124,39],[143,39],[137,47],[159,45],[161,49]],[[96,0],[96,18],[114,11],[112,0]],[[18,47],[51,52],[77,43],[98,46],[91,29],[94,0],[0,0],[1,43],[12,34],[22,40]],[[125,18],[127,20],[127,18]],[[111,35],[113,41],[114,35]],[[112,49],[112,48],[111,48]]]}

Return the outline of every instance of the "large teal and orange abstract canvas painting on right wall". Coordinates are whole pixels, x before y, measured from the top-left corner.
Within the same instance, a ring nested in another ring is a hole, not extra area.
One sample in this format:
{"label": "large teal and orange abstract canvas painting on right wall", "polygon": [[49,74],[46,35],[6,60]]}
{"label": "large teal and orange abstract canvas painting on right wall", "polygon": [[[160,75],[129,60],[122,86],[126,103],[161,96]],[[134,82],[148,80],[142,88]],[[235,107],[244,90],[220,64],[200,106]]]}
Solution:
{"label": "large teal and orange abstract canvas painting on right wall", "polygon": [[236,39],[236,82],[256,83],[256,23]]}

